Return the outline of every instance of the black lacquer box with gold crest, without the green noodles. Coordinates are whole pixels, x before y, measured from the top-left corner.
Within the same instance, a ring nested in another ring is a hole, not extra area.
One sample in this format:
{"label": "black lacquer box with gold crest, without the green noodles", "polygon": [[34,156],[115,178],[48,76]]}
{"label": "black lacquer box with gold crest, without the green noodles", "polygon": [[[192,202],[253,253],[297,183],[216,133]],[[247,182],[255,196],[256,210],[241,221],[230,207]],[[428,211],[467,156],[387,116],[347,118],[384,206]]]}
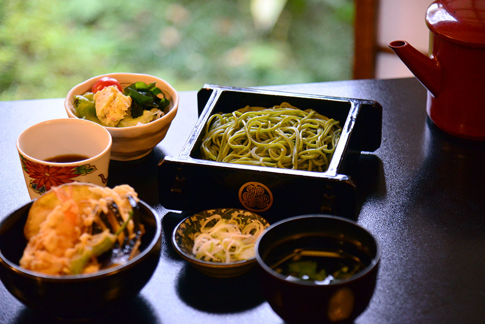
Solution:
{"label": "black lacquer box with gold crest, without the green noodles", "polygon": [[[200,146],[207,120],[249,106],[287,102],[340,121],[343,130],[325,172],[204,160]],[[270,222],[294,215],[325,213],[354,218],[352,170],[362,151],[381,143],[382,107],[371,100],[206,84],[198,92],[199,120],[177,157],[158,165],[159,199],[168,209],[199,212],[245,208]]]}

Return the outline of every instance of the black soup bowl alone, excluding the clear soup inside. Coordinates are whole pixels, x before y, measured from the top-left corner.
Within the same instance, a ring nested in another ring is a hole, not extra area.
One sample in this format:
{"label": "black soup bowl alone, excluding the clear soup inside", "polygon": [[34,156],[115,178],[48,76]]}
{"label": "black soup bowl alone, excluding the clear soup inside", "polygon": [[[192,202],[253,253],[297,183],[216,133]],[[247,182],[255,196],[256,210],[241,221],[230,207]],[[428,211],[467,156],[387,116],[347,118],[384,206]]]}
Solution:
{"label": "black soup bowl alone, excluding the clear soup inside", "polygon": [[[341,247],[365,253],[368,264],[350,278],[329,284],[288,280],[272,269],[281,256],[300,249],[323,251],[330,241],[332,250]],[[271,308],[288,323],[353,323],[373,295],[379,258],[380,248],[372,235],[354,221],[337,216],[287,218],[267,228],[256,243],[262,292]]]}

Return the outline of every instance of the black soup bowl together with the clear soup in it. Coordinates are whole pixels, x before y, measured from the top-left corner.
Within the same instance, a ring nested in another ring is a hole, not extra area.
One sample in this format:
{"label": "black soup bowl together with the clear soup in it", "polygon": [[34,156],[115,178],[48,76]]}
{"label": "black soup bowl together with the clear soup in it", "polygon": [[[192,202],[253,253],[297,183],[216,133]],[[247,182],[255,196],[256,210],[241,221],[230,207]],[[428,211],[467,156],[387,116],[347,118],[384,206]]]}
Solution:
{"label": "black soup bowl together with the clear soup in it", "polygon": [[356,222],[329,215],[287,218],[256,243],[263,294],[288,323],[347,323],[374,292],[380,247]]}

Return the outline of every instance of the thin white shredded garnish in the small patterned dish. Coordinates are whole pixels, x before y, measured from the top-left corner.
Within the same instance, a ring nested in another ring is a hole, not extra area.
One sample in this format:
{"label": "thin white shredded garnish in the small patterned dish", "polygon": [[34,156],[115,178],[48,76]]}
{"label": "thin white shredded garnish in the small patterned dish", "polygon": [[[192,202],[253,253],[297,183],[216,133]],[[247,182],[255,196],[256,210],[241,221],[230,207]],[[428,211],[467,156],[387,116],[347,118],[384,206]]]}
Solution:
{"label": "thin white shredded garnish in the small patterned dish", "polygon": [[192,253],[198,259],[213,262],[251,259],[255,256],[256,240],[263,230],[264,225],[259,220],[254,219],[246,224],[240,216],[224,219],[215,214],[208,217],[200,232],[195,234]]}

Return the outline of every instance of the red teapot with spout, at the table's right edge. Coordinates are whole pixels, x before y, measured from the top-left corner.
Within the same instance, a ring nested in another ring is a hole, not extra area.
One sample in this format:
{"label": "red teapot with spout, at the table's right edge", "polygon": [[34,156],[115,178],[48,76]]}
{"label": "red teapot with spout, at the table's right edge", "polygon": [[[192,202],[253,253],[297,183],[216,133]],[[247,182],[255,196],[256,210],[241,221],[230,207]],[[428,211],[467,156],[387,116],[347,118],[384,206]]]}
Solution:
{"label": "red teapot with spout, at the table's right edge", "polygon": [[438,0],[426,11],[429,56],[389,43],[428,89],[426,111],[444,131],[485,141],[485,0]]}

